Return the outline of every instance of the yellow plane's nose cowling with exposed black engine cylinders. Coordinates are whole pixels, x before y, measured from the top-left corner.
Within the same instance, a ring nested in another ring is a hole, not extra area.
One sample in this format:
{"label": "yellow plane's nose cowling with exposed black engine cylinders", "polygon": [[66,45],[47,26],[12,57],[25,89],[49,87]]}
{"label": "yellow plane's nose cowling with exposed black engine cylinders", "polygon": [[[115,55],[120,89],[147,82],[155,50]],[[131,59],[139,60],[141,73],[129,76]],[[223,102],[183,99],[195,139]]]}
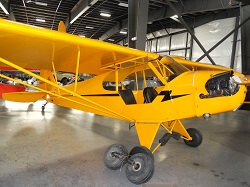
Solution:
{"label": "yellow plane's nose cowling with exposed black engine cylinders", "polygon": [[228,72],[197,72],[195,75],[196,116],[235,111],[244,102],[246,86],[232,77],[244,75]]}

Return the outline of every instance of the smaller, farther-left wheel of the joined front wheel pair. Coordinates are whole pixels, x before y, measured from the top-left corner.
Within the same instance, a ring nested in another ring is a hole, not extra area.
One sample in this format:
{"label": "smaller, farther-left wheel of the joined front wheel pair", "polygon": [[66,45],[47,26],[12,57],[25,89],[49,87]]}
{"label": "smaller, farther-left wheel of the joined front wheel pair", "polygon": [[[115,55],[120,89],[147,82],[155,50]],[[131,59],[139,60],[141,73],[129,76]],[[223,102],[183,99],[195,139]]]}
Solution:
{"label": "smaller, farther-left wheel of the joined front wheel pair", "polygon": [[122,157],[128,156],[128,150],[122,144],[113,144],[107,148],[104,153],[103,161],[104,164],[112,170],[117,170],[122,167],[123,160],[114,156],[112,153],[118,153]]}

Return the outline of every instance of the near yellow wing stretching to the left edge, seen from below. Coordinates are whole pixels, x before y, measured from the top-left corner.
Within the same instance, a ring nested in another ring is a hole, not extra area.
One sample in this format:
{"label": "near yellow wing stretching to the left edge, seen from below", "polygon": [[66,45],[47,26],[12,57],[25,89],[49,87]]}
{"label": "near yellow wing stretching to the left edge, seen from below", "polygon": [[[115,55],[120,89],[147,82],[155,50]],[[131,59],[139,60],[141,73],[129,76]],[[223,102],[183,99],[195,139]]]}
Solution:
{"label": "near yellow wing stretching to the left edge, seen from below", "polygon": [[75,72],[79,50],[79,73],[96,75],[105,72],[104,66],[142,57],[153,60],[159,56],[3,19],[0,19],[0,41],[0,57],[23,68],[52,70],[53,61],[57,71]]}

